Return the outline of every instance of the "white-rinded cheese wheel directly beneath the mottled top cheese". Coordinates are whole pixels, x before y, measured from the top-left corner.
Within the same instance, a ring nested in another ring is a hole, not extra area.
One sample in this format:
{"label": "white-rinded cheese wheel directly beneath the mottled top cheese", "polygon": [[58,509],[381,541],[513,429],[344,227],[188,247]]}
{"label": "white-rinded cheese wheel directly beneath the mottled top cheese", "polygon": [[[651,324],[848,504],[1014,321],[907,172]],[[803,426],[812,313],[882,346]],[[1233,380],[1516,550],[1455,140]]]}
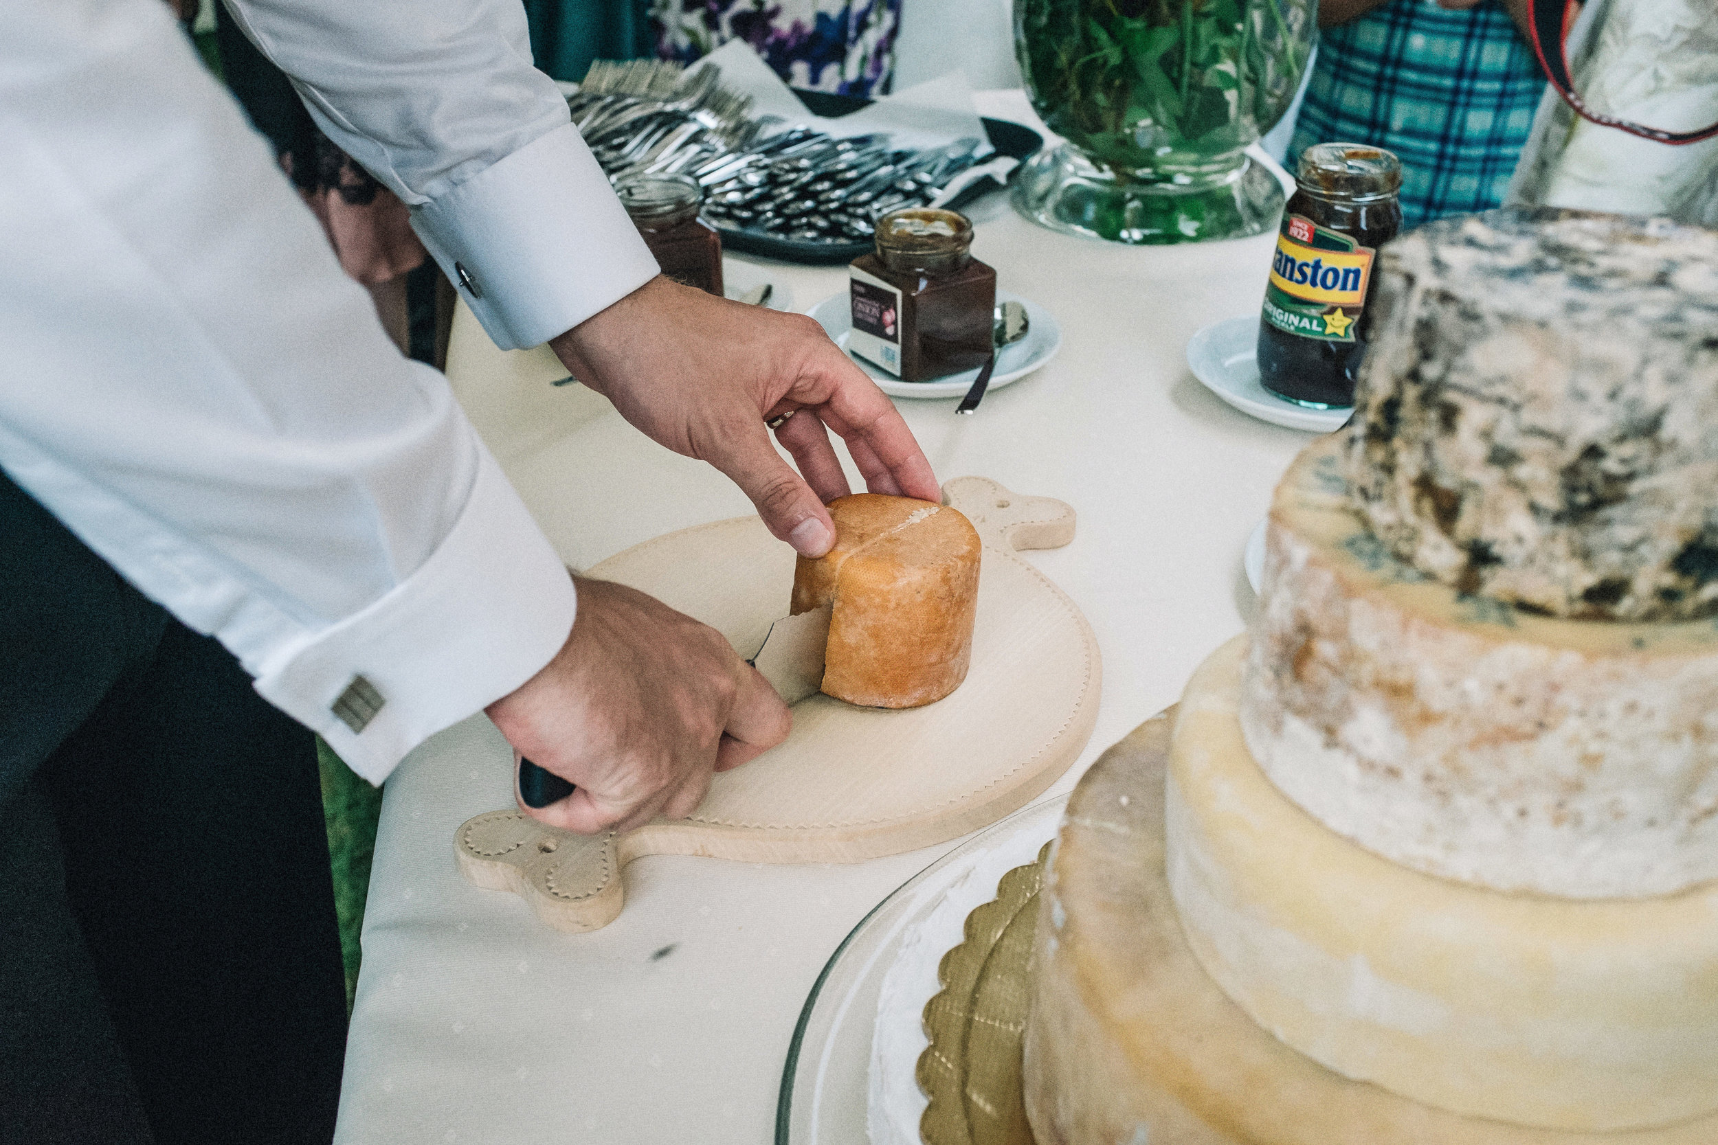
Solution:
{"label": "white-rinded cheese wheel directly beneath the mottled top cheese", "polygon": [[1337,438],[1276,489],[1240,721],[1290,800],[1416,870],[1569,898],[1718,877],[1718,627],[1421,579],[1349,510]]}

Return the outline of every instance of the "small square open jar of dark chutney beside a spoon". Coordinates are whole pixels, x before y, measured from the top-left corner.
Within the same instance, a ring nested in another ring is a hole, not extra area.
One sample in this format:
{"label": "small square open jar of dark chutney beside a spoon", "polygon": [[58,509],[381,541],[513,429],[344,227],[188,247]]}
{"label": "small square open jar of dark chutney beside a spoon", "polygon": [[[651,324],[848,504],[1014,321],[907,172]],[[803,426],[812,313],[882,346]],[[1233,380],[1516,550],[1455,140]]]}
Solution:
{"label": "small square open jar of dark chutney beside a spoon", "polygon": [[971,254],[972,220],[914,208],[876,220],[876,251],[852,261],[847,348],[902,381],[976,369],[995,345],[996,271]]}

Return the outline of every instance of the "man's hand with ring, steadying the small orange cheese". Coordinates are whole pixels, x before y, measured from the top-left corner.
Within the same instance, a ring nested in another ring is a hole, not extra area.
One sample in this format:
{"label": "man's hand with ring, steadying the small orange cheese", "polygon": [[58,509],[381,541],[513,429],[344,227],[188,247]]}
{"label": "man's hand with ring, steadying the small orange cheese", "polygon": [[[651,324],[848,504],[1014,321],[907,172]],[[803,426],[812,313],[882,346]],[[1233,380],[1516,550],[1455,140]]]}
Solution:
{"label": "man's hand with ring, steadying the small orange cheese", "polygon": [[[919,443],[864,371],[816,321],[653,278],[550,342],[574,378],[675,453],[710,462],[806,556],[835,544],[825,501],[849,493],[825,427],[873,493],[940,501]],[[770,445],[777,431],[801,481]],[[809,484],[807,484],[809,482]]]}

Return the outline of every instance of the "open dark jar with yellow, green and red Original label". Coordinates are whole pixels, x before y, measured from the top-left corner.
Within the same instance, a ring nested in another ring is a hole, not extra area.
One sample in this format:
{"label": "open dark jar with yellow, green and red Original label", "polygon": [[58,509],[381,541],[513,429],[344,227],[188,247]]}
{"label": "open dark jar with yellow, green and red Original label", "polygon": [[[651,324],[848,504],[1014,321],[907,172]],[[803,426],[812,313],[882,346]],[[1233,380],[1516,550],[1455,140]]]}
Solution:
{"label": "open dark jar with yellow, green and red Original label", "polygon": [[1354,405],[1373,257],[1402,228],[1402,165],[1381,148],[1301,153],[1259,318],[1259,381],[1297,405]]}

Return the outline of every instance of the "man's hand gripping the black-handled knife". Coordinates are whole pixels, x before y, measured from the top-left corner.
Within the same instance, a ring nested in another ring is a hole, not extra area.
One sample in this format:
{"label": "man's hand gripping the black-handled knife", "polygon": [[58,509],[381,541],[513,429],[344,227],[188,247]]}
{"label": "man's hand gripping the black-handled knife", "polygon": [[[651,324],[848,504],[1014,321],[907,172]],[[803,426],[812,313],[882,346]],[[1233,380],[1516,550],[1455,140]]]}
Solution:
{"label": "man's hand gripping the black-handled knife", "polygon": [[594,834],[684,819],[715,771],[787,738],[775,688],[720,632],[606,580],[579,580],[567,644],[486,709],[522,755],[577,791],[533,819]]}

